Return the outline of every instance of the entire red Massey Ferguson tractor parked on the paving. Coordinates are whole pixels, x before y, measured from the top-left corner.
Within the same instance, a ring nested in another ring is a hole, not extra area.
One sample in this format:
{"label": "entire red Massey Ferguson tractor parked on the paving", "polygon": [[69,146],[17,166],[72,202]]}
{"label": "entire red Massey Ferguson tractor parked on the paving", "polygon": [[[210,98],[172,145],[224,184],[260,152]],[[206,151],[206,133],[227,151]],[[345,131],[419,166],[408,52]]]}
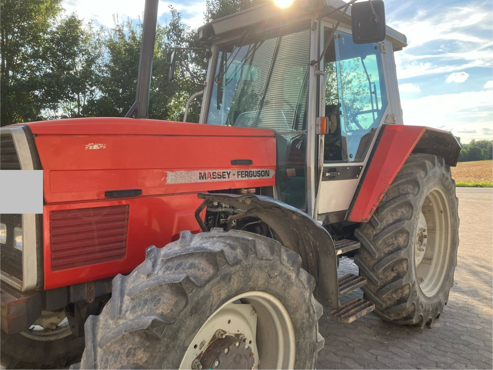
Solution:
{"label": "entire red Massey Ferguson tractor parked on the paving", "polygon": [[[43,214],[1,215],[5,366],[84,351],[74,368],[313,369],[321,304],[343,322],[440,316],[460,145],[403,125],[406,37],[382,1],[354,2],[269,2],[199,28],[200,121],[181,123],[146,119],[147,0],[127,117],[1,129],[1,169],[41,169],[44,195]],[[359,276],[338,278],[341,256]]]}

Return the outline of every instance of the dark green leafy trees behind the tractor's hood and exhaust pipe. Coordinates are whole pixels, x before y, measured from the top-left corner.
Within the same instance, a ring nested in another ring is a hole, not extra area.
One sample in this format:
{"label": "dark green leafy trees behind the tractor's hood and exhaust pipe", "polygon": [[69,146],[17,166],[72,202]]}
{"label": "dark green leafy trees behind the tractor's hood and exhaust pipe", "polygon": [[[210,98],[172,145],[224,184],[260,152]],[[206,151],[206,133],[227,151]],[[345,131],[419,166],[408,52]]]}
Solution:
{"label": "dark green leafy trees behind the tractor's hood and exhaust pipe", "polygon": [[[265,0],[208,0],[207,21]],[[41,119],[122,117],[135,101],[142,22],[114,19],[111,28],[63,16],[61,0],[0,0],[2,126]],[[177,51],[175,79],[168,81],[173,47],[203,48],[196,30],[171,19],[158,25],[149,92],[149,118],[180,121],[186,101],[204,89],[205,52]],[[188,112],[198,122],[201,99]]]}

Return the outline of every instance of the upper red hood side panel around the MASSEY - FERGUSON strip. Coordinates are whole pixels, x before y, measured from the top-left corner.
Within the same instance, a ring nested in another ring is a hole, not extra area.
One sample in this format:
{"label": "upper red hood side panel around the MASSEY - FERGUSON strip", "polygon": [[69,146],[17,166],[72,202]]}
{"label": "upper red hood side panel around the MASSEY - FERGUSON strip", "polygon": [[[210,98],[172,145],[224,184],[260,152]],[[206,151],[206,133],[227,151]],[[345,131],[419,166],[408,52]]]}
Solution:
{"label": "upper red hood side panel around the MASSEY - FERGUSON strip", "polygon": [[[141,189],[142,196],[155,196],[275,183],[274,137],[94,135],[35,140],[48,203],[106,199],[108,190]],[[98,144],[99,149],[86,149],[88,144]],[[234,159],[250,159],[253,165],[232,166]],[[271,176],[237,176],[239,170],[249,169],[268,169]],[[231,173],[221,181],[202,181],[195,175],[197,182],[168,182],[169,172],[178,170]]]}

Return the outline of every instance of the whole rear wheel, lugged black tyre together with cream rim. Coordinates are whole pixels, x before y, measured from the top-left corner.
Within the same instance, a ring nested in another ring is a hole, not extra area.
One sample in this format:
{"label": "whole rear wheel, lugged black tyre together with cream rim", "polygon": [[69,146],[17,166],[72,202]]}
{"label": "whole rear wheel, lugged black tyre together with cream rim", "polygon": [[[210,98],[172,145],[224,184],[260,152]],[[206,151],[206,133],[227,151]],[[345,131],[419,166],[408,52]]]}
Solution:
{"label": "whole rear wheel, lugged black tyre together with cream rim", "polygon": [[443,158],[411,155],[370,222],[354,235],[354,257],[374,313],[396,324],[430,325],[449,298],[457,266],[458,199]]}

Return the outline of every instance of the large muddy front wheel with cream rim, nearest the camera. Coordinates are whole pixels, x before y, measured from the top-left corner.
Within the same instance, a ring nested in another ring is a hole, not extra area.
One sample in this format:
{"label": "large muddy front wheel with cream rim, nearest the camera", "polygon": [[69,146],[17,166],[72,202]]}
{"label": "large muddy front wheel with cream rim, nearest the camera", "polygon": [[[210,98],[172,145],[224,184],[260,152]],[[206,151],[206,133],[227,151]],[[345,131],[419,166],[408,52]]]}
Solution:
{"label": "large muddy front wheel with cream rim, nearest the camera", "polygon": [[322,306],[301,258],[241,231],[150,247],[85,325],[81,369],[314,369]]}

